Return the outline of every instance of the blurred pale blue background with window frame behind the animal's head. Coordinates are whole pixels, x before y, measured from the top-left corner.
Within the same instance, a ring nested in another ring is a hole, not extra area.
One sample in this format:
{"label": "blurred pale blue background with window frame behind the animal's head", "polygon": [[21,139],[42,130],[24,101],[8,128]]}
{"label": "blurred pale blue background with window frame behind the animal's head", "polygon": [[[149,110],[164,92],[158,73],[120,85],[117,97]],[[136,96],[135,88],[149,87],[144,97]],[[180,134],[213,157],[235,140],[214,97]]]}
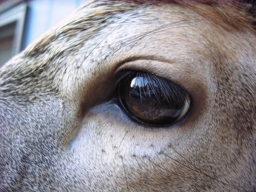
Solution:
{"label": "blurred pale blue background with window frame behind the animal's head", "polygon": [[0,0],[0,68],[88,0]]}

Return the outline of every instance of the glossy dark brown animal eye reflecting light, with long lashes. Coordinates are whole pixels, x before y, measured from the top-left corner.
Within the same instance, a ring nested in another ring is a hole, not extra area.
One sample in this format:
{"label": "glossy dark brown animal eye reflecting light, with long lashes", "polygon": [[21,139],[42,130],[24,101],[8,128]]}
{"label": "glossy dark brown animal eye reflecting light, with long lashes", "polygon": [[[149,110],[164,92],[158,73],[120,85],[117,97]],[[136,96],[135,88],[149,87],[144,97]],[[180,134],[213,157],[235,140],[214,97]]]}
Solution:
{"label": "glossy dark brown animal eye reflecting light, with long lashes", "polygon": [[142,71],[122,74],[118,100],[132,120],[156,127],[182,120],[191,107],[191,96],[185,89]]}

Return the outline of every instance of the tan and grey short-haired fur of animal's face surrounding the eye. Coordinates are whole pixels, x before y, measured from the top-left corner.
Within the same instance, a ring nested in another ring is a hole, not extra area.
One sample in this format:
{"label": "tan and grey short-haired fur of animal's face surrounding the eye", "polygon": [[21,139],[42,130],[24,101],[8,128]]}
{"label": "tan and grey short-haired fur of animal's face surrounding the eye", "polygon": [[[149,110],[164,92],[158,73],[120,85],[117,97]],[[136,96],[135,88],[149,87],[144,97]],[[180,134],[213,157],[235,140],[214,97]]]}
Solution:
{"label": "tan and grey short-haired fur of animal's face surrounding the eye", "polygon": [[[0,71],[0,191],[256,191],[246,5],[94,1],[49,30]],[[191,111],[133,121],[114,99],[124,70],[180,85]]]}

